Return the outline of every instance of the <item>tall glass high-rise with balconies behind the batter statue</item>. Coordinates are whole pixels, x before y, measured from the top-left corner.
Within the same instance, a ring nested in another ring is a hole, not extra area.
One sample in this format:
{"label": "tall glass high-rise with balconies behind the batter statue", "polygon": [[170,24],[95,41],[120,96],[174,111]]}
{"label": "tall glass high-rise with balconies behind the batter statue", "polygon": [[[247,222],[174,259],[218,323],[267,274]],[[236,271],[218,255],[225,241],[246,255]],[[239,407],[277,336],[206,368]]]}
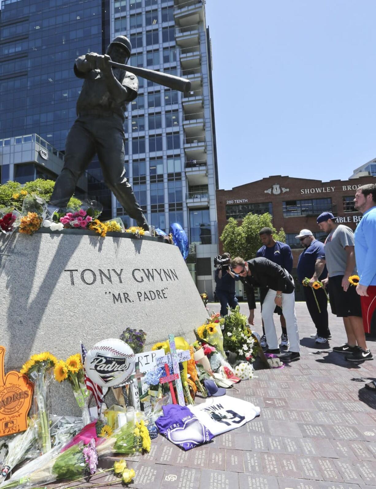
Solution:
{"label": "tall glass high-rise with balconies behind the batter statue", "polygon": [[[74,60],[104,52],[119,34],[131,39],[131,65],[191,80],[191,91],[180,93],[139,78],[124,124],[125,167],[149,223],[167,233],[173,222],[183,226],[194,245],[191,272],[199,290],[212,295],[218,172],[205,2],[3,0],[0,15],[2,141],[36,133],[64,151],[82,86]],[[88,192],[133,224],[103,185],[97,160],[88,169]]]}

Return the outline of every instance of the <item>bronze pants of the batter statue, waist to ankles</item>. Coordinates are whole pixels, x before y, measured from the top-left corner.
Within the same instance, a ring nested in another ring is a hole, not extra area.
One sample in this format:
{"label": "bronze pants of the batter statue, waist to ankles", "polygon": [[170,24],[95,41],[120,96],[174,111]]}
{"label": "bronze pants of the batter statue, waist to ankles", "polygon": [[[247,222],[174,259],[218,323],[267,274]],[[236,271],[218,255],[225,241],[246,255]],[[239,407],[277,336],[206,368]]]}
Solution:
{"label": "bronze pants of the batter statue, waist to ankles", "polygon": [[64,168],[56,180],[49,203],[66,207],[78,179],[95,154],[106,185],[137,225],[148,230],[132,186],[125,178],[125,135],[123,122],[117,115],[81,115],[76,119],[66,138]]}

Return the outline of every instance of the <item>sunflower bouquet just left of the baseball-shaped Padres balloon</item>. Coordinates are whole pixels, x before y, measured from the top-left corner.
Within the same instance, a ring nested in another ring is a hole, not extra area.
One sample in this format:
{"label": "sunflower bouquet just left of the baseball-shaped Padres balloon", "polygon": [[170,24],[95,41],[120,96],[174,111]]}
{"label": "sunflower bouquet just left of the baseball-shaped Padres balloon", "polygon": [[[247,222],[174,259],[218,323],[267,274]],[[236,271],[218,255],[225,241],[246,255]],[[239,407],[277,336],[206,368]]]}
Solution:
{"label": "sunflower bouquet just left of the baseball-shaped Padres balloon", "polygon": [[68,380],[72,386],[73,395],[77,401],[78,406],[82,411],[82,421],[84,426],[90,422],[89,414],[89,400],[90,393],[85,385],[84,380],[84,367],[81,363],[81,356],[79,353],[69,356],[66,361],[59,360],[54,368],[55,380],[63,382]]}

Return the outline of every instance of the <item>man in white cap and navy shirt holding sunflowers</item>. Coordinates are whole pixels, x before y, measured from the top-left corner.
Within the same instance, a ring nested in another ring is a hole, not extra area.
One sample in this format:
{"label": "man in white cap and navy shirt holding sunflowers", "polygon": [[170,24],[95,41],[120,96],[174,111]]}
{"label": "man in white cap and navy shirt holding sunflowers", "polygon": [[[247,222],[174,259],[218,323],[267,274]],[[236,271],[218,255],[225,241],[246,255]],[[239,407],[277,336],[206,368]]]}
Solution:
{"label": "man in white cap and navy shirt holding sunflowers", "polygon": [[309,229],[302,229],[295,238],[305,248],[298,260],[298,280],[302,283],[306,277],[310,279],[309,286],[303,287],[303,291],[308,312],[317,331],[316,334],[311,335],[311,338],[315,338],[316,343],[326,343],[331,337],[328,298],[324,289],[312,288],[314,282],[321,282],[328,275],[325,266],[324,243],[317,241]]}

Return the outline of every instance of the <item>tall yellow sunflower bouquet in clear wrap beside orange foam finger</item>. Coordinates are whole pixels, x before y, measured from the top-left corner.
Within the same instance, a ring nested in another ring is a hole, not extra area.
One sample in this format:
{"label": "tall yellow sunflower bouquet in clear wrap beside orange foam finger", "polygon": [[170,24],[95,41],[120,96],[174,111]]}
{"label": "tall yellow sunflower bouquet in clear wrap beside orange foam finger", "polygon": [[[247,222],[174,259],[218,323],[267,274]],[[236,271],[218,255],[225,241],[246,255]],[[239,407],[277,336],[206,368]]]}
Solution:
{"label": "tall yellow sunflower bouquet in clear wrap beside orange foam finger", "polygon": [[42,453],[51,449],[49,429],[49,386],[52,380],[52,369],[57,358],[49,352],[33,355],[22,366],[21,374],[26,374],[34,383],[34,412],[37,415],[38,441]]}

